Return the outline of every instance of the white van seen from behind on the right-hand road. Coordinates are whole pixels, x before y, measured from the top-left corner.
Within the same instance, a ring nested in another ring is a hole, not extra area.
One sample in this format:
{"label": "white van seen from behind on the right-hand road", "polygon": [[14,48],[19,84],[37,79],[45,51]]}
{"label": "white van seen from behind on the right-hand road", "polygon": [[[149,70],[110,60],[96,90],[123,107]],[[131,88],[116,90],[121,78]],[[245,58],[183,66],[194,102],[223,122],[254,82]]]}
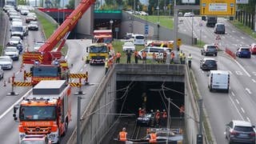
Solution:
{"label": "white van seen from behind on the right-hand road", "polygon": [[208,88],[212,90],[225,90],[226,93],[230,89],[230,74],[225,70],[210,70]]}

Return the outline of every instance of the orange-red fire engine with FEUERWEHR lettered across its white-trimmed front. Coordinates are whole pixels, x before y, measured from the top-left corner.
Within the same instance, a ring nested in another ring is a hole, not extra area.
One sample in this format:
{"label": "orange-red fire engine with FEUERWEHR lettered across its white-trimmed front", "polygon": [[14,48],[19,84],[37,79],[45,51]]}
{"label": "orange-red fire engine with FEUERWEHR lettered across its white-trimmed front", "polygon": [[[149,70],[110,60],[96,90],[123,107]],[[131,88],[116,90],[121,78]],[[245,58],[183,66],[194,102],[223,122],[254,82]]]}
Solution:
{"label": "orange-red fire engine with FEUERWEHR lettered across its white-trimmed front", "polygon": [[[65,80],[40,81],[20,105],[14,106],[19,140],[26,134],[46,134],[57,143],[71,120],[71,87]],[[17,117],[18,116],[18,117]]]}

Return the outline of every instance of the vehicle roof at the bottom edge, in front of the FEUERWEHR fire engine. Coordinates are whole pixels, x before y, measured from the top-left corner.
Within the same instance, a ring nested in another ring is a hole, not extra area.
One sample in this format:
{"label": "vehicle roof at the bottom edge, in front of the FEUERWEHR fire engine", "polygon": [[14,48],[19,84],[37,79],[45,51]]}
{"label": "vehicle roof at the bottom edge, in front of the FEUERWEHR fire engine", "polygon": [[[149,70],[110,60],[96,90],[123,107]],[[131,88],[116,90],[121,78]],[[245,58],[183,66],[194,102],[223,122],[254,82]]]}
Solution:
{"label": "vehicle roof at the bottom edge, in front of the FEUERWEHR fire engine", "polygon": [[45,134],[28,134],[26,135],[21,144],[51,144],[49,138]]}

